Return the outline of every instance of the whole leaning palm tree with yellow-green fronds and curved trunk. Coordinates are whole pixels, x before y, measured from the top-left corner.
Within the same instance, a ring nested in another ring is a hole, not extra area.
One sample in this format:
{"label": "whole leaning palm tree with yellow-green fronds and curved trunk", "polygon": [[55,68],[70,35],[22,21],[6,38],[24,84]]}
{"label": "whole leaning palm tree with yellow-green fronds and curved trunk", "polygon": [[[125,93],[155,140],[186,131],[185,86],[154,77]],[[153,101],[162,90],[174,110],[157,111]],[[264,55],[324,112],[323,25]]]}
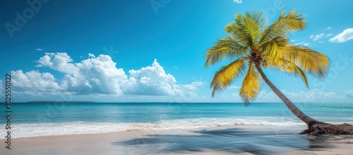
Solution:
{"label": "whole leaning palm tree with yellow-green fronds and curved trunk", "polygon": [[[308,130],[304,132],[319,130],[313,127],[328,124],[301,112],[273,85],[262,68],[268,67],[289,75],[300,76],[305,86],[309,88],[306,73],[318,79],[325,79],[330,61],[325,54],[311,50],[309,47],[291,45],[289,42],[290,33],[306,28],[304,14],[299,13],[296,8],[288,13],[282,11],[277,21],[270,25],[265,25],[265,19],[261,12],[237,13],[235,20],[225,27],[225,32],[229,35],[217,40],[215,45],[207,50],[205,67],[221,60],[232,60],[230,64],[216,71],[210,84],[213,88],[212,96],[227,88],[234,79],[245,74],[239,91],[239,96],[245,105],[255,101],[263,80],[287,105],[287,108],[308,125]],[[352,134],[352,129],[349,134]],[[322,133],[316,131],[315,134]]]}

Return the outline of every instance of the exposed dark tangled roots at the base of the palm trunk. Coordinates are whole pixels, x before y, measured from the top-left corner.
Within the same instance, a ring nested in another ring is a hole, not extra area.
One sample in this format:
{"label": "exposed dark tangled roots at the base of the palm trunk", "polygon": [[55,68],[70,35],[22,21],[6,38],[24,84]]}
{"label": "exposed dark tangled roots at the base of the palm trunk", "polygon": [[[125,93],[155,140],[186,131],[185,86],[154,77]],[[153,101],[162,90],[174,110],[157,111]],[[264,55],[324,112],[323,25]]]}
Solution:
{"label": "exposed dark tangled roots at the base of the palm trunk", "polygon": [[308,129],[303,130],[301,134],[309,134],[310,136],[319,136],[321,134],[353,135],[353,125],[347,123],[343,123],[342,125],[332,125],[326,122],[314,121],[309,123]]}

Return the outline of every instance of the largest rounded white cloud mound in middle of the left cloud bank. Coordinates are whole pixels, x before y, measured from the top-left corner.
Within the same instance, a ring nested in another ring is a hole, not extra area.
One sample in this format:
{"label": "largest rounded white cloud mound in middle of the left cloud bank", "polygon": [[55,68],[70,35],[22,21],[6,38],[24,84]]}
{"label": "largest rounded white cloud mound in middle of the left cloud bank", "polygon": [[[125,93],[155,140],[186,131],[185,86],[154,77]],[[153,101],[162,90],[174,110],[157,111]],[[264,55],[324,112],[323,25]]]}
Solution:
{"label": "largest rounded white cloud mound in middle of the left cloud bank", "polygon": [[69,90],[80,93],[122,94],[121,87],[128,81],[123,69],[117,69],[116,63],[108,55],[84,59],[76,63],[77,72],[69,74],[63,81]]}

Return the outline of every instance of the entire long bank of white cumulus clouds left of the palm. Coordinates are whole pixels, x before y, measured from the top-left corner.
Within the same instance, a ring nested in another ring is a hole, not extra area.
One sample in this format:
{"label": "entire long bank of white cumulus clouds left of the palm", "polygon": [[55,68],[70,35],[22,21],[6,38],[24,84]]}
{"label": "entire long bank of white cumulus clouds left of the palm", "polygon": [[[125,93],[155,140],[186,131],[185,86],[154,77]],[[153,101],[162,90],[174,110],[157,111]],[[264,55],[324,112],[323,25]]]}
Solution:
{"label": "entire long bank of white cumulus clouds left of the palm", "polygon": [[202,85],[199,81],[177,85],[174,76],[167,74],[157,59],[151,66],[131,69],[128,71],[129,76],[123,69],[116,68],[112,58],[104,54],[97,57],[88,54],[88,59],[75,63],[65,52],[45,53],[36,62],[37,67],[49,67],[61,72],[64,77],[57,80],[49,73],[13,71],[17,91],[56,91],[79,95],[196,96],[191,91]]}

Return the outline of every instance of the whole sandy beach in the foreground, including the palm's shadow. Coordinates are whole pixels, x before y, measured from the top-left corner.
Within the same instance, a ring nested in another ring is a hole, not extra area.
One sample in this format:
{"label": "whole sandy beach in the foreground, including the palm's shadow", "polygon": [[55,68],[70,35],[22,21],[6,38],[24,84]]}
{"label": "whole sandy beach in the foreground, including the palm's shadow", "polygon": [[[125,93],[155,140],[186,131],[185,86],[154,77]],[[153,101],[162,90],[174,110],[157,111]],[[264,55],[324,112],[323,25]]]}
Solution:
{"label": "whole sandy beach in the foreground, including the palm's shadow", "polygon": [[234,125],[13,139],[1,154],[350,154],[352,136],[308,137]]}

